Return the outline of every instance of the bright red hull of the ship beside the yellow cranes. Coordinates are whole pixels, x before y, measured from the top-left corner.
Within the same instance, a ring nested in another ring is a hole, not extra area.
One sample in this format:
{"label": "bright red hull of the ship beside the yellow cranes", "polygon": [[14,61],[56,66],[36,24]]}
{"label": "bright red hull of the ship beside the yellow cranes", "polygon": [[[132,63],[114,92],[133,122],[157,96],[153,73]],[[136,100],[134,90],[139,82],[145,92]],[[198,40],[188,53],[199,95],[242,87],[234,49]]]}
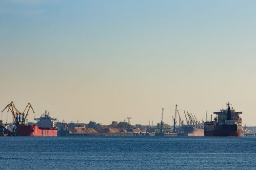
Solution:
{"label": "bright red hull of the ship beside the yellow cranes", "polygon": [[57,136],[56,128],[39,128],[38,126],[18,126],[16,136]]}

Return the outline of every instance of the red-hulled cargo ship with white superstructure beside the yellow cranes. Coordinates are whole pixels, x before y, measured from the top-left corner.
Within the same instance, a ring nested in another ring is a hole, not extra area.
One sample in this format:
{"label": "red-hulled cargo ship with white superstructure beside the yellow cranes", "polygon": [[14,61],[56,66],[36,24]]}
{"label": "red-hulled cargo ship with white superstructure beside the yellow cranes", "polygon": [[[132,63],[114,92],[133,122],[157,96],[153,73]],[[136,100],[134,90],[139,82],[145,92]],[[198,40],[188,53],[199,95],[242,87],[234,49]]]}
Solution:
{"label": "red-hulled cargo ship with white superstructure beside the yellow cranes", "polygon": [[18,125],[16,136],[57,136],[58,129],[55,126],[56,120],[45,111],[40,118],[35,119],[36,125]]}

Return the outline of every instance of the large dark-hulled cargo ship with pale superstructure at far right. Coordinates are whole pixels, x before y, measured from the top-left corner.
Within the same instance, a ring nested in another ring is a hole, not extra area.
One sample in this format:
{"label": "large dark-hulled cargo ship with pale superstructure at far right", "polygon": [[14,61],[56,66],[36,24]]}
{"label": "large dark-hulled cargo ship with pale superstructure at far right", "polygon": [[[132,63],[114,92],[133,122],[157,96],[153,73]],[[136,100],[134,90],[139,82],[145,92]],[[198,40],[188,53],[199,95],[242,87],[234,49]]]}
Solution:
{"label": "large dark-hulled cargo ship with pale superstructure at far right", "polygon": [[217,115],[214,121],[204,122],[204,136],[242,136],[242,119],[239,117],[242,112],[236,112],[230,106],[228,102],[227,109],[214,112]]}

